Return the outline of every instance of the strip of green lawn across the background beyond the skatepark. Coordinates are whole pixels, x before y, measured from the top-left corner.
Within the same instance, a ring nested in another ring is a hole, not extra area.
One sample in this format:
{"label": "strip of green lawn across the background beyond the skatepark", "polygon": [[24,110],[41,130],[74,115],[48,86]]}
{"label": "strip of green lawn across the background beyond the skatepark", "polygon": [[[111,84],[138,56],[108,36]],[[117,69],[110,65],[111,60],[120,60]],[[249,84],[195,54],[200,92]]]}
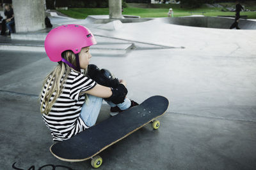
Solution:
{"label": "strip of green lawn across the background beyond the skatepark", "polygon": [[[221,5],[232,6],[234,3],[221,3]],[[246,9],[256,10],[255,3],[244,4]],[[168,17],[168,9],[170,5],[164,4],[164,6],[159,6],[159,8],[134,8],[128,7],[124,8],[123,15],[138,15],[141,18],[153,18],[153,17]],[[200,8],[186,9],[180,8],[179,5],[172,5],[174,17],[183,17],[189,15],[202,15],[205,12],[205,16],[216,17],[218,15],[235,15],[235,12],[227,11],[225,8],[208,8],[207,6],[202,6]],[[221,11],[224,10],[224,11]],[[72,18],[84,19],[88,15],[108,15],[108,8],[69,8],[68,10],[58,10],[61,13],[68,15]],[[190,12],[193,12],[192,14]],[[240,15],[248,15],[248,18],[256,18],[256,11],[241,11]]]}

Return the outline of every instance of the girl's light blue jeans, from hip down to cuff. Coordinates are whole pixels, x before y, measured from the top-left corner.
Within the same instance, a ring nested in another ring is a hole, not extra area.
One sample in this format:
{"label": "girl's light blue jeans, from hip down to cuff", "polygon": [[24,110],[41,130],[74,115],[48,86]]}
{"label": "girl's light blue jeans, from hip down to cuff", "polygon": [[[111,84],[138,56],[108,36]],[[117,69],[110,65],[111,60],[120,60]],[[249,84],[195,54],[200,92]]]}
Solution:
{"label": "girl's light blue jeans, from hip down to cuff", "polygon": [[[103,99],[100,97],[92,96],[90,94],[88,94],[87,96],[88,96],[88,103],[83,104],[80,117],[84,121],[84,124],[91,127],[96,123],[96,120],[100,113],[100,108],[101,108]],[[124,103],[120,103],[120,104],[114,104],[109,101],[106,101],[106,102],[111,107],[118,106],[120,110],[126,110],[131,106],[131,101],[128,98],[125,98]]]}

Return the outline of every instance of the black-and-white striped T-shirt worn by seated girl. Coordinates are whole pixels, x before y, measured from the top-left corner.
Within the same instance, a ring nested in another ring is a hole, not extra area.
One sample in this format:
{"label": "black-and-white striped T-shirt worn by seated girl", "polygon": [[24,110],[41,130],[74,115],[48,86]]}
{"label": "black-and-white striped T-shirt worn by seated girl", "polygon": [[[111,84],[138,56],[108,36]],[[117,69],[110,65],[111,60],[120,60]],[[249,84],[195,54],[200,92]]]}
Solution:
{"label": "black-and-white striped T-shirt worn by seated girl", "polygon": [[[54,141],[69,139],[77,133],[89,128],[84,124],[81,117],[79,117],[85,100],[85,96],[79,96],[79,94],[80,92],[92,89],[96,84],[95,81],[87,78],[84,74],[77,73],[73,70],[70,72],[66,82],[63,84],[63,90],[53,104],[49,115],[42,114],[44,122],[51,131]],[[45,96],[46,88],[47,85],[45,84],[44,90],[42,91],[41,104]],[[45,104],[43,109],[45,109]]]}

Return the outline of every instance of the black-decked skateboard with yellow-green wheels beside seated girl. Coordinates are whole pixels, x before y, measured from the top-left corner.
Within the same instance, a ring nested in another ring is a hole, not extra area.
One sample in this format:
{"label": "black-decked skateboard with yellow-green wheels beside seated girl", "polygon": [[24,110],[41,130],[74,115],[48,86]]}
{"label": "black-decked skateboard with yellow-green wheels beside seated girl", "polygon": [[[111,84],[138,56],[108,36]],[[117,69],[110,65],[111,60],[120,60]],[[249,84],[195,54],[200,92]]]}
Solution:
{"label": "black-decked skateboard with yellow-green wheels beside seated girl", "polygon": [[100,152],[149,123],[152,123],[153,129],[158,129],[160,122],[156,118],[164,115],[168,106],[166,97],[149,97],[138,106],[122,111],[70,139],[55,143],[50,152],[56,158],[68,162],[92,159],[91,165],[100,167]]}

